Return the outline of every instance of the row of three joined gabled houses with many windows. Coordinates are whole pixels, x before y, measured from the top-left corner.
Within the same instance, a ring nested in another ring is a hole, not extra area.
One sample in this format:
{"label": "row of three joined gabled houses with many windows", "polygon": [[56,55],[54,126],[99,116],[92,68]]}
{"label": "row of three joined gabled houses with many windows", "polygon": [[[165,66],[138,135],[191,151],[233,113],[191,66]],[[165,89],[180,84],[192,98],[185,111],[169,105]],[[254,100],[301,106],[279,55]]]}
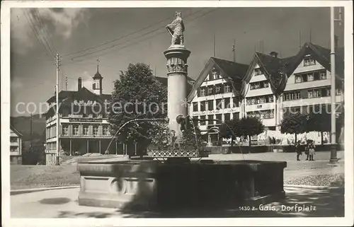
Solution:
{"label": "row of three joined gabled houses with many windows", "polygon": [[[336,53],[336,103],[341,112],[343,48]],[[212,57],[188,96],[190,115],[221,121],[256,116],[265,130],[278,132],[285,115],[331,110],[330,62],[330,50],[312,43],[287,58],[256,52],[248,66]],[[200,129],[210,134],[210,145],[219,141],[215,122],[200,122]]]}

